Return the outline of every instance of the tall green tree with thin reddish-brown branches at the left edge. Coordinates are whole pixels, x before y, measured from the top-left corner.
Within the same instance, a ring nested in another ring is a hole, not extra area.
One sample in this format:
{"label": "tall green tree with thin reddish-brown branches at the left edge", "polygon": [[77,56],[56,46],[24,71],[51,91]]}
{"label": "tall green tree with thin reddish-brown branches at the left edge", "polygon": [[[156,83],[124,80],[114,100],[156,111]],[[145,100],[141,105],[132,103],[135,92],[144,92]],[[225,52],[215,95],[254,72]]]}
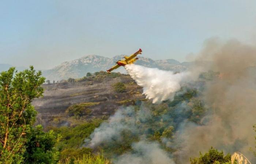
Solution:
{"label": "tall green tree with thin reddish-brown branches at the left edge", "polygon": [[0,161],[21,163],[27,133],[33,128],[37,112],[31,102],[42,96],[45,78],[30,69],[17,73],[14,67],[0,73]]}

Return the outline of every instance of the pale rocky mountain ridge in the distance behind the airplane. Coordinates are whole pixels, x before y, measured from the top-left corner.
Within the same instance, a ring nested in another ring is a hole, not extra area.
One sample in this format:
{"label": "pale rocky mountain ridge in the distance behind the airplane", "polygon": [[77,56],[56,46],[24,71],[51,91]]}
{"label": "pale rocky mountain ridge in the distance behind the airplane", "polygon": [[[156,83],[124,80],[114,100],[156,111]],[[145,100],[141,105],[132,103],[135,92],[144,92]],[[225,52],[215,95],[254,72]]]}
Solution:
{"label": "pale rocky mountain ridge in the distance behind the airplane", "polygon": [[[83,56],[82,58],[72,60],[70,62],[63,62],[51,70],[45,70],[43,71],[43,75],[46,79],[51,81],[68,78],[81,78],[86,76],[88,72],[94,73],[97,71],[105,71],[115,65],[117,60],[122,58],[123,55],[114,56],[113,58],[106,58],[97,55]],[[136,61],[136,64],[171,71],[184,71],[188,68],[183,65],[183,63],[174,59],[152,60],[150,58],[144,58],[143,56],[139,56],[139,60]],[[115,71],[126,73],[123,67],[120,67]]]}

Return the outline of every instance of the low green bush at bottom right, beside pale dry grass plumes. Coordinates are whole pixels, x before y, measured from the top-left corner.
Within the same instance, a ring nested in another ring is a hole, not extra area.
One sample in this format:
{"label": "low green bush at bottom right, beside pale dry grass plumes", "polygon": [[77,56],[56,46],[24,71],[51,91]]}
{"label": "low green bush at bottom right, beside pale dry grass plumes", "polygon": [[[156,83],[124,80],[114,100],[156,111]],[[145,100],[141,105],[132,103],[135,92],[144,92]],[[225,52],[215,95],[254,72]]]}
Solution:
{"label": "low green bush at bottom right, beside pale dry grass plumes", "polygon": [[231,164],[231,155],[228,153],[224,156],[223,151],[218,152],[217,149],[211,147],[204,155],[200,152],[200,157],[190,158],[190,162],[191,164]]}

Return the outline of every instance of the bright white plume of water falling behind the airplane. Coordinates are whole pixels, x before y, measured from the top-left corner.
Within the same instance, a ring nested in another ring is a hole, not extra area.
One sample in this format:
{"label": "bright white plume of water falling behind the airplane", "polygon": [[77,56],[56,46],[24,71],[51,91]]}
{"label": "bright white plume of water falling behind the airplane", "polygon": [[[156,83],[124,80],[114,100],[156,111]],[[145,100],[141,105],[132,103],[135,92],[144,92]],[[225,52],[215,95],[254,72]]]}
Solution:
{"label": "bright white plume of water falling behind the airplane", "polygon": [[146,98],[153,99],[153,103],[173,100],[175,92],[181,88],[181,83],[191,78],[190,72],[174,74],[172,71],[134,64],[126,65],[125,69],[136,83],[143,87]]}

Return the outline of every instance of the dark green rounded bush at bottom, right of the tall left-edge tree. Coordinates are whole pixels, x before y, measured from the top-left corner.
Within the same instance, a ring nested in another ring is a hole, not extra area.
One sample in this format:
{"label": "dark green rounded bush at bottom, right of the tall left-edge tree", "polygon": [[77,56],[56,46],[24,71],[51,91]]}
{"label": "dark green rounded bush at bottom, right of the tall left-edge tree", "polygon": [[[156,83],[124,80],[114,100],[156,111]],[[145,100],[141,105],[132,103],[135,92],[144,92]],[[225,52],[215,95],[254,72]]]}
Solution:
{"label": "dark green rounded bush at bottom, right of the tall left-edge tree", "polygon": [[59,152],[54,149],[60,136],[56,136],[53,130],[45,133],[42,125],[37,125],[27,134],[26,152],[24,154],[26,164],[57,163]]}

